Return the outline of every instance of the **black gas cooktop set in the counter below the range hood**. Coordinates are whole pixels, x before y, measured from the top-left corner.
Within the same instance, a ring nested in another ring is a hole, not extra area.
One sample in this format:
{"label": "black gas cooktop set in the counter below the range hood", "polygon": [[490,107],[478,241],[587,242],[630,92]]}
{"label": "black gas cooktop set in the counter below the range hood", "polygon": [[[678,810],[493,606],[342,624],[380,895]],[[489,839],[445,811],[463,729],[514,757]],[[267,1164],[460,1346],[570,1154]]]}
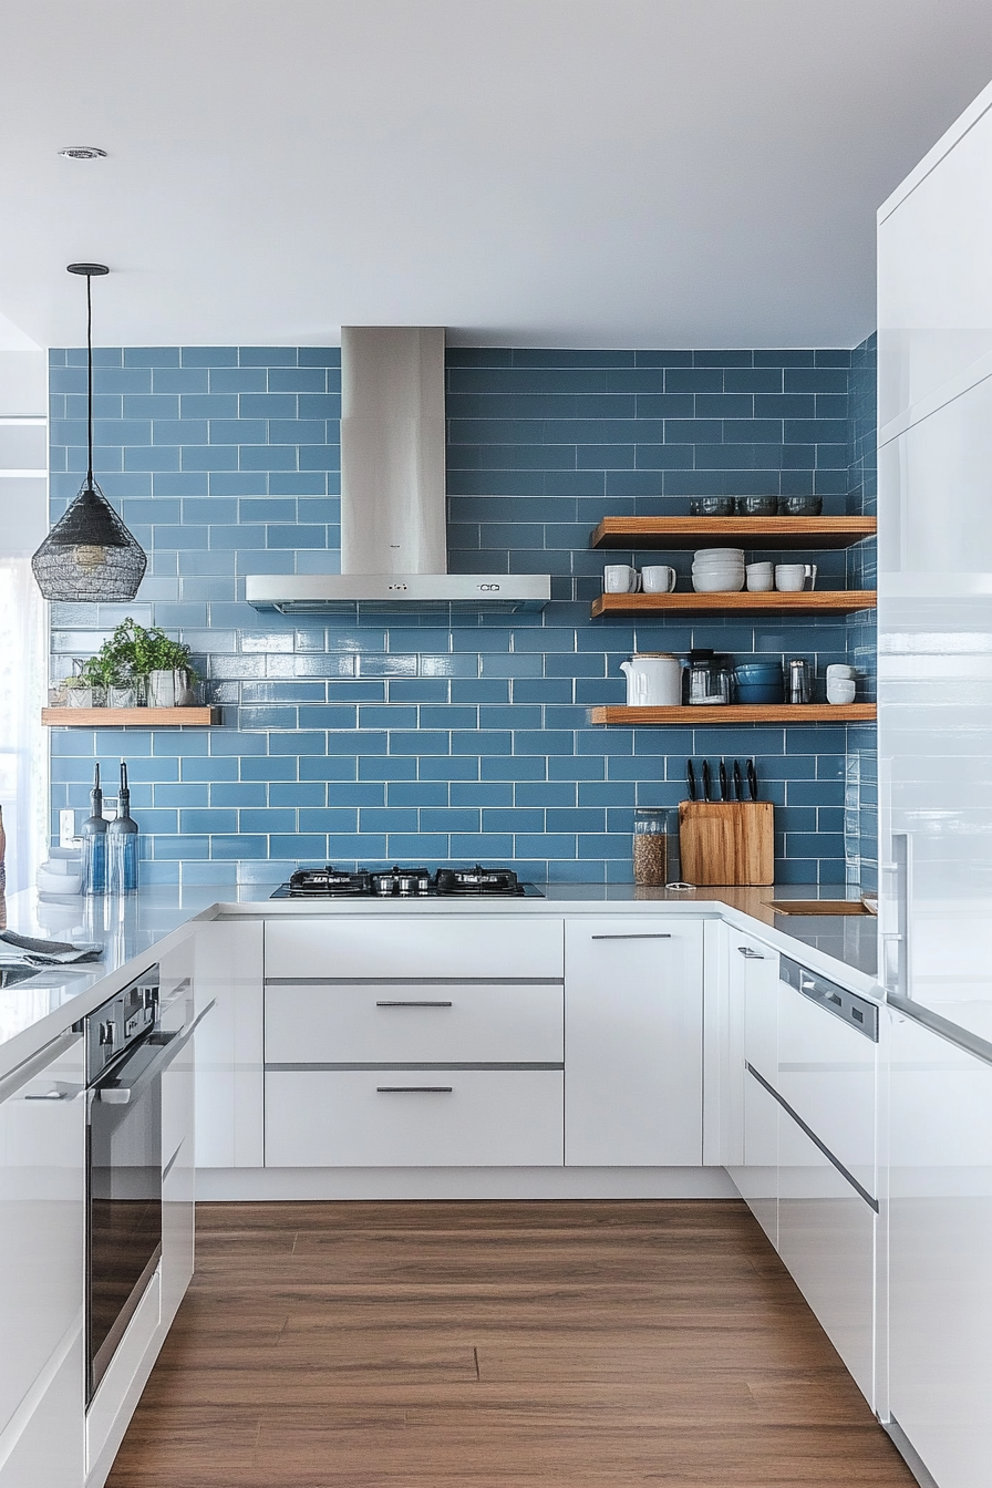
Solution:
{"label": "black gas cooktop set in the counter below the range hood", "polygon": [[300,868],[272,899],[543,899],[512,868]]}

